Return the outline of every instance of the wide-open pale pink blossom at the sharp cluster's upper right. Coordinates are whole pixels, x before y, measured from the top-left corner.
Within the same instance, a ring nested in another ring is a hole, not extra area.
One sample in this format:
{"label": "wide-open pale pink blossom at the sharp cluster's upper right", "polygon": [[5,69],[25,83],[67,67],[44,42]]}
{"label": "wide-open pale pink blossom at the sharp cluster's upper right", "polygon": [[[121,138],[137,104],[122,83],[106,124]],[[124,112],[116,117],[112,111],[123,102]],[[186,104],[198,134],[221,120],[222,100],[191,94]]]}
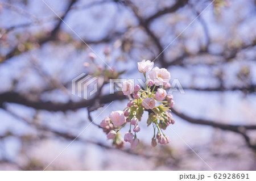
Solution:
{"label": "wide-open pale pink blossom at the sharp cluster's upper right", "polygon": [[166,69],[155,67],[151,73],[148,74],[148,78],[151,79],[156,86],[159,86],[163,85],[164,82],[169,82],[171,75]]}

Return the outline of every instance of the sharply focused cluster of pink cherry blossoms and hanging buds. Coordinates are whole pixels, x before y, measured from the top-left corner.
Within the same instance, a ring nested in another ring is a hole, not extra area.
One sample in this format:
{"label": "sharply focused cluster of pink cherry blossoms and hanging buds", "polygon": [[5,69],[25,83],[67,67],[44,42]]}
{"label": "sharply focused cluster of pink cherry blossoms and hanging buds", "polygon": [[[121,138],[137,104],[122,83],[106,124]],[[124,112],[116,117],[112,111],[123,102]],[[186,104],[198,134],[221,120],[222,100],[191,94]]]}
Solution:
{"label": "sharply focused cluster of pink cherry blossoms and hanging buds", "polygon": [[[132,149],[139,145],[137,134],[141,131],[139,124],[144,111],[148,112],[147,126],[152,125],[154,130],[151,145],[155,147],[157,140],[162,145],[170,142],[170,138],[163,133],[163,130],[168,125],[174,124],[170,110],[174,106],[174,100],[166,91],[171,87],[169,83],[171,76],[166,69],[153,67],[154,62],[149,60],[138,62],[138,70],[144,75],[146,89],[142,89],[140,85],[134,86],[132,80],[123,82],[123,94],[132,95],[133,99],[129,100],[123,111],[113,111],[109,117],[101,121],[100,126],[104,128],[108,139],[113,140],[113,145],[117,148],[123,148],[125,142],[129,142]],[[122,138],[119,131],[125,125],[129,125],[130,128]]]}

